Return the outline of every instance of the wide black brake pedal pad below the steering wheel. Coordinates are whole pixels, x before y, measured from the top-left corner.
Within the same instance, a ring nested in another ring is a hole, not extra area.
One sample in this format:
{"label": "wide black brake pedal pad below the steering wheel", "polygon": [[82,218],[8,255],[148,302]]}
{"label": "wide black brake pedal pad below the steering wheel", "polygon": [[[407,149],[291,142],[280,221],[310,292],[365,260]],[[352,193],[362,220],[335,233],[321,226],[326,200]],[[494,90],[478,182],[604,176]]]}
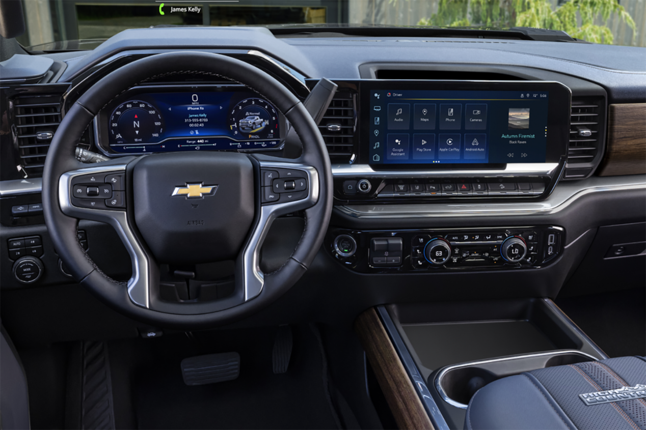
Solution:
{"label": "wide black brake pedal pad below the steering wheel", "polygon": [[215,384],[231,381],[240,374],[240,354],[198,355],[182,360],[182,378],[186,385]]}

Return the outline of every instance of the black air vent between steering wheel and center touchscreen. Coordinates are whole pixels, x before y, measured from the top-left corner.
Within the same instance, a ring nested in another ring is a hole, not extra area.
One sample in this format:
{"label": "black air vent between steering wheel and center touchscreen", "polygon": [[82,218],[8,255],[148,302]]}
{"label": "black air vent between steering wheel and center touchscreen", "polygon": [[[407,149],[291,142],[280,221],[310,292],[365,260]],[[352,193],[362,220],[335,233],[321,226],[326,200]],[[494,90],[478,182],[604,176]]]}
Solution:
{"label": "black air vent between steering wheel and center touchscreen", "polygon": [[356,97],[351,92],[337,91],[318,125],[328,147],[329,159],[333,164],[350,163],[353,154],[356,153]]}

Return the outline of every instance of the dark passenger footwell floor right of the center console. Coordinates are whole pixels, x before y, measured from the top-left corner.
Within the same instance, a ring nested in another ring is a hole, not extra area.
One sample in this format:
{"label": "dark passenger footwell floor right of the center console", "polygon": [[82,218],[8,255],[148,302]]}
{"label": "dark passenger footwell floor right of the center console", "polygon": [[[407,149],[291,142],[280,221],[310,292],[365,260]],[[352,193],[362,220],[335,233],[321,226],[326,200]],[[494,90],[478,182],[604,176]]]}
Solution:
{"label": "dark passenger footwell floor right of the center console", "polygon": [[557,298],[556,304],[610,357],[646,355],[644,289]]}

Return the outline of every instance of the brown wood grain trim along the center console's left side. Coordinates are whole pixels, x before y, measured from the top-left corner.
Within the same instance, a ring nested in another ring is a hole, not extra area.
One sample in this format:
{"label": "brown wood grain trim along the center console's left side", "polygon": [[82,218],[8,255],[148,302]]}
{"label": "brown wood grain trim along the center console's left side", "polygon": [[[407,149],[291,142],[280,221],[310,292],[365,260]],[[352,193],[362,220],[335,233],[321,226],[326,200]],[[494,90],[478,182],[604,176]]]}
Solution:
{"label": "brown wood grain trim along the center console's left side", "polygon": [[375,371],[399,430],[434,430],[374,308],[359,315],[355,321],[355,332]]}

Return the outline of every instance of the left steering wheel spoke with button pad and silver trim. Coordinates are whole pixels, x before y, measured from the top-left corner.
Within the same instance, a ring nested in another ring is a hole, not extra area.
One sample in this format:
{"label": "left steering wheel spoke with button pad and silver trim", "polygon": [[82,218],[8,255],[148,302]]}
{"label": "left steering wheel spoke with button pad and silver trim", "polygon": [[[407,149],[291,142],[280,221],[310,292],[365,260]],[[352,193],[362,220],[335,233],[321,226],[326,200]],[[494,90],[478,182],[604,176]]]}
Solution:
{"label": "left steering wheel spoke with button pad and silver trim", "polygon": [[153,259],[130,228],[126,210],[126,167],[97,165],[62,174],[58,184],[59,205],[67,216],[100,221],[116,230],[132,261],[128,295],[136,305],[147,308]]}

